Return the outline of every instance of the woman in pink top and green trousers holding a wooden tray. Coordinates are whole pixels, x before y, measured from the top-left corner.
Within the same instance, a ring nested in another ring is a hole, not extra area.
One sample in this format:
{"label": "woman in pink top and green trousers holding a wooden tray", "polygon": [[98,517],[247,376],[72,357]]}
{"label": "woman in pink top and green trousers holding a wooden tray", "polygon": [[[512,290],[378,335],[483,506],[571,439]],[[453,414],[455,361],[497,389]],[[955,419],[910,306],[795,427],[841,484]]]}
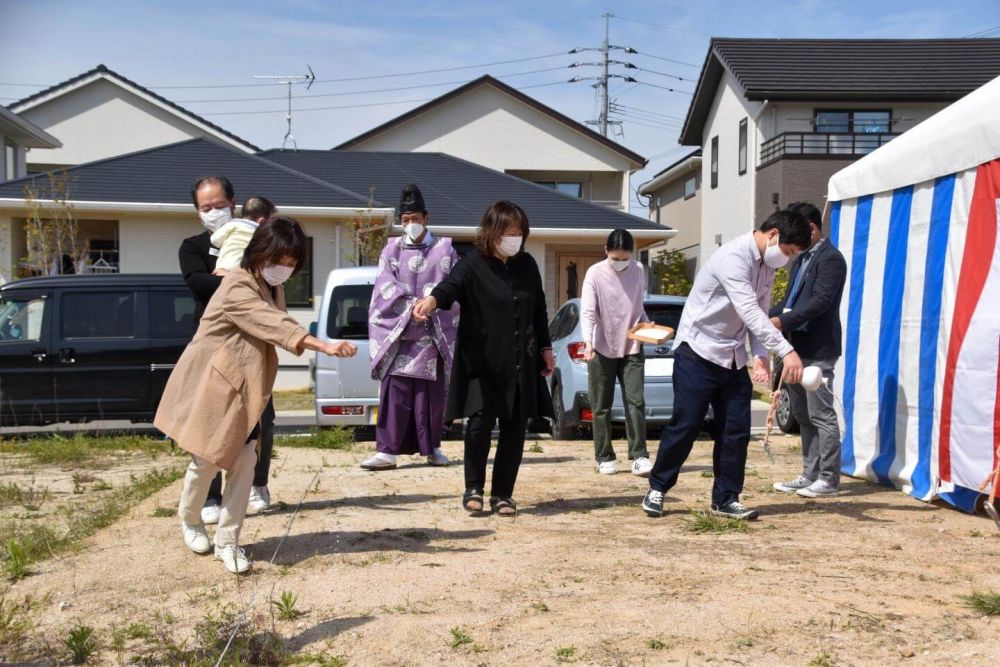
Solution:
{"label": "woman in pink top and green trousers holding a wooden tray", "polygon": [[653,465],[646,451],[646,400],[643,396],[645,359],[642,344],[628,338],[630,330],[649,326],[643,308],[646,273],[632,261],[635,241],[624,229],[608,236],[608,258],[587,269],[583,279],[580,320],[590,406],[594,411],[594,456],[597,472],[613,475],[615,450],[611,446],[611,403],[615,380],[625,400],[625,434],[632,474],[648,477]]}

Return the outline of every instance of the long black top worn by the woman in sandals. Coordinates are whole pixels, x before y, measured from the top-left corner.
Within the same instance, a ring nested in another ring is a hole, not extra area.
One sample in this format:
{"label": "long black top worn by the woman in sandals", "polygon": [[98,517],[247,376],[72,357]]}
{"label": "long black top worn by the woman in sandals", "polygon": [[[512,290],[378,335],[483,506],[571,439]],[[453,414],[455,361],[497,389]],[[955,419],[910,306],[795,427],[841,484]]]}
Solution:
{"label": "long black top worn by the woman in sandals", "polygon": [[470,252],[431,295],[438,308],[462,307],[446,419],[479,411],[509,419],[518,394],[523,417],[551,417],[541,351],[552,340],[535,259],[521,252],[504,263]]}

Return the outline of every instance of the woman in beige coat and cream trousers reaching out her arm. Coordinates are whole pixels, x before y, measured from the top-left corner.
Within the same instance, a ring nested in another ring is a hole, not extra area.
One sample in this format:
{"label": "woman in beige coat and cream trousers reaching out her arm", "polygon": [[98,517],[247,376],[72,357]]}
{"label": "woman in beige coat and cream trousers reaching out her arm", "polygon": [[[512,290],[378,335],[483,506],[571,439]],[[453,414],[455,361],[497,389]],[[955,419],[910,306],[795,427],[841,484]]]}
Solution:
{"label": "woman in beige coat and cream trousers reaching out her arm", "polygon": [[291,218],[273,217],[257,229],[241,268],[226,275],[209,302],[153,422],[192,455],[178,513],[184,542],[195,553],[212,549],[201,507],[212,478],[220,469],[226,472],[215,557],[234,573],[250,569],[239,536],[257,459],[258,422],[278,372],[275,346],[296,355],[357,352],[351,343],[310,336],[286,312],[281,285],[302,268],[306,248],[302,228]]}

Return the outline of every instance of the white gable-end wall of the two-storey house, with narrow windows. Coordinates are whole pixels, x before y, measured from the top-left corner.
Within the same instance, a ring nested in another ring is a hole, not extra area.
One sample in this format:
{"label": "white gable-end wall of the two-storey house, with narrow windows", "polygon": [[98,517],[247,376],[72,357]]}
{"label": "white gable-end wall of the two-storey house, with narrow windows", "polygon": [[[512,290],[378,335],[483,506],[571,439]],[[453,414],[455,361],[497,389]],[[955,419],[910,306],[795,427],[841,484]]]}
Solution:
{"label": "white gable-end wall of the two-storey house, with narrow windows", "polygon": [[[702,136],[702,180],[700,196],[701,255],[699,264],[705,262],[718,244],[753,229],[754,173],[757,164],[757,147],[760,138],[754,123],[754,114],[760,102],[743,97],[735,77],[728,71],[719,82],[719,91],[708,114]],[[739,172],[739,123],[747,119],[747,170]],[[719,183],[712,188],[712,138],[719,137]]]}

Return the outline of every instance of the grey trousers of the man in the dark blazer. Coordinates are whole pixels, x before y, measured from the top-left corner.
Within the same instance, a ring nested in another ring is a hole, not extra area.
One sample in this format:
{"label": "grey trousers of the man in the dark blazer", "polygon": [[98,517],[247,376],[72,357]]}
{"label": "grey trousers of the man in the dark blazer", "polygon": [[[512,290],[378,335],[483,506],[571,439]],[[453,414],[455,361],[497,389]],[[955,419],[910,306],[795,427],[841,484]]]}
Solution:
{"label": "grey trousers of the man in the dark blazer", "polygon": [[802,431],[802,475],[840,485],[840,424],[833,407],[834,360],[803,359],[804,366],[818,366],[826,385],[806,391],[800,384],[786,385],[792,414]]}

